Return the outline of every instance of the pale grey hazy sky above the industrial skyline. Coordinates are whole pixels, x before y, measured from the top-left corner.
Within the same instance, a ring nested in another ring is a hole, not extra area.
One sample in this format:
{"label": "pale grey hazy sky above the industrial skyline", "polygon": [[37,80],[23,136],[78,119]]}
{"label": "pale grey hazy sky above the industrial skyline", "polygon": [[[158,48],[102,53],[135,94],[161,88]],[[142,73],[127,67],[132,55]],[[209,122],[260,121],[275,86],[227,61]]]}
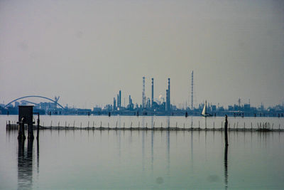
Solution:
{"label": "pale grey hazy sky above the industrial skyline", "polygon": [[283,1],[0,1],[0,102],[146,96],[267,107],[284,101]]}

